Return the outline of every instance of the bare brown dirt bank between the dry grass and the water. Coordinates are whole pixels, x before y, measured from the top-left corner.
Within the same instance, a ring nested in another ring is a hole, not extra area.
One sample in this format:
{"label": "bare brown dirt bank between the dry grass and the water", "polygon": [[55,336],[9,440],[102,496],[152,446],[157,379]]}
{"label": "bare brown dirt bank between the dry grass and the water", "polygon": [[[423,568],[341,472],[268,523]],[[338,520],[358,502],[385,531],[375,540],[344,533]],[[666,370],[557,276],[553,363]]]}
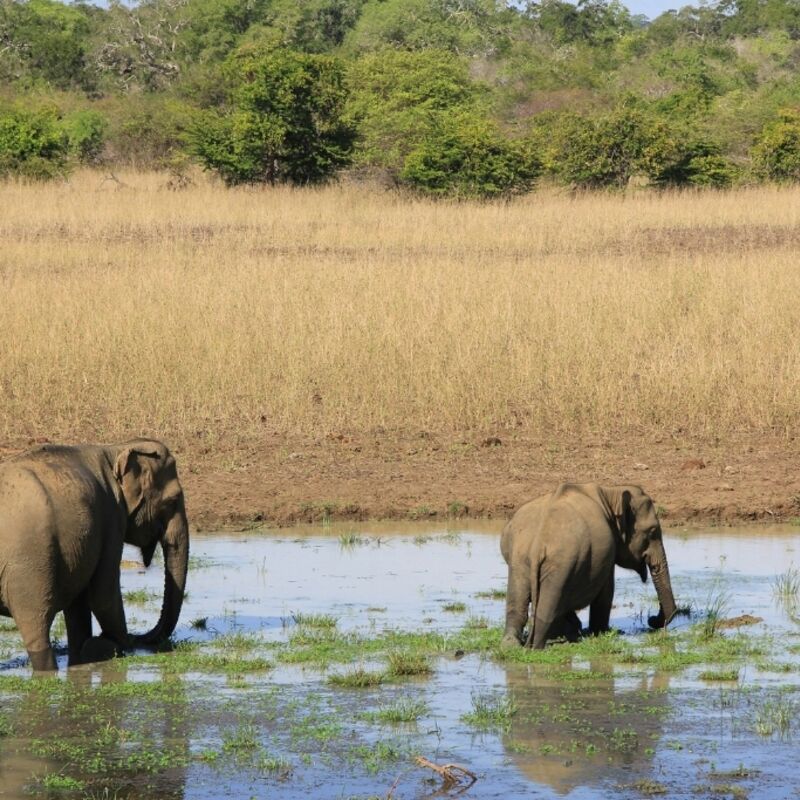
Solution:
{"label": "bare brown dirt bank between the dry grass and the water", "polygon": [[[0,457],[35,443],[0,445]],[[562,481],[585,480],[641,485],[667,527],[800,524],[800,445],[793,437],[678,432],[544,442],[516,431],[265,432],[229,437],[225,446],[168,443],[200,531],[324,519],[504,519]]]}

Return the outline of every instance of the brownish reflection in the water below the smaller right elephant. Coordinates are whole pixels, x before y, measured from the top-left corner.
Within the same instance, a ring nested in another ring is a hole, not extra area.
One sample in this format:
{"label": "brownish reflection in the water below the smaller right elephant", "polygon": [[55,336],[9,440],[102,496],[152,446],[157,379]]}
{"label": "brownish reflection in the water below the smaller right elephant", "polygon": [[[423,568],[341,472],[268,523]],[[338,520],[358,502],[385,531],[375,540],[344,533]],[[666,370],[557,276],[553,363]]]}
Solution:
{"label": "brownish reflection in the water below the smaller right elephant", "polygon": [[[541,677],[553,669],[560,679]],[[508,757],[525,777],[561,795],[648,776],[669,709],[665,674],[624,678],[594,663],[589,670],[508,665],[506,671],[519,706],[503,738]]]}

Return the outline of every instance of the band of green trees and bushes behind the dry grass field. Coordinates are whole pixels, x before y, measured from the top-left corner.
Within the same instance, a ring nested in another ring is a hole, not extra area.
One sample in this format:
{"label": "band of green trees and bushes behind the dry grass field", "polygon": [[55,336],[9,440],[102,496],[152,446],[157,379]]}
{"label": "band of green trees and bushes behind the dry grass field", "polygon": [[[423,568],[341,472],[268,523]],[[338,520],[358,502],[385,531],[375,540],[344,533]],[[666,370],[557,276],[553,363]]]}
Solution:
{"label": "band of green trees and bushes behind the dry grass field", "polygon": [[800,179],[800,0],[0,0],[0,165],[433,195]]}

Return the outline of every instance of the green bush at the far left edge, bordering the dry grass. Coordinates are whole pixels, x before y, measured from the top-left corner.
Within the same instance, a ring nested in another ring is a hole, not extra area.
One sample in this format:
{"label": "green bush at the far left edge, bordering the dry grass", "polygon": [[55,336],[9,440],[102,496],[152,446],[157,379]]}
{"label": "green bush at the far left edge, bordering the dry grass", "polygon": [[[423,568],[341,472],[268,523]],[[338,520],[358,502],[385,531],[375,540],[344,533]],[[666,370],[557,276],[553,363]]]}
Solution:
{"label": "green bush at the far left edge, bordering the dry grass", "polygon": [[69,139],[53,112],[0,112],[0,176],[65,175],[68,152]]}

